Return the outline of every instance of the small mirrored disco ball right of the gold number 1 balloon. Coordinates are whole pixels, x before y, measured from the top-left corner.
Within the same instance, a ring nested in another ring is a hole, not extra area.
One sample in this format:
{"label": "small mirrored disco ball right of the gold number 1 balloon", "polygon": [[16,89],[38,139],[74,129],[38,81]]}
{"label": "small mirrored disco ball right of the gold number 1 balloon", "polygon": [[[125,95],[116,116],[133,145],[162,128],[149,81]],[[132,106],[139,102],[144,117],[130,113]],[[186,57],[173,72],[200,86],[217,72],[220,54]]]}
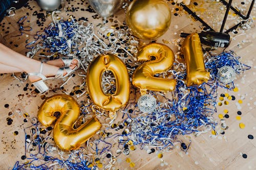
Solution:
{"label": "small mirrored disco ball right of the gold number 1 balloon", "polygon": [[228,84],[236,79],[236,71],[230,66],[223,66],[219,69],[217,77],[220,82]]}

